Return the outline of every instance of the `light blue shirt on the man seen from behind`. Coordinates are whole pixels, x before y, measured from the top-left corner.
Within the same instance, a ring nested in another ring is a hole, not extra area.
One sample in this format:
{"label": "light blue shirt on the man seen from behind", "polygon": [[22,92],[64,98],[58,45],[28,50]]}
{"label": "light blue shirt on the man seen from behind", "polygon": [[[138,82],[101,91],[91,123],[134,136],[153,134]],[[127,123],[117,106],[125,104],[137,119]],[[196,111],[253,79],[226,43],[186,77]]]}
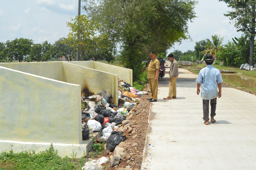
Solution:
{"label": "light blue shirt on the man seen from behind", "polygon": [[223,79],[217,68],[207,65],[201,69],[195,82],[202,84],[201,97],[210,100],[218,97],[218,83],[223,82]]}

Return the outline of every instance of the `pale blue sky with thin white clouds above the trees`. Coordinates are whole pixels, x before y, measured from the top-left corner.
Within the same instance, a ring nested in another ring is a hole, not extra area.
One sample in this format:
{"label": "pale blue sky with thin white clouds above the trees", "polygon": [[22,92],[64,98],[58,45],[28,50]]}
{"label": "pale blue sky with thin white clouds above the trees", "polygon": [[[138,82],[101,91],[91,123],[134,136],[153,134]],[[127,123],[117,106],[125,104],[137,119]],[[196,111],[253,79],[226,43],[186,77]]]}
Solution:
{"label": "pale blue sky with thin white clouds above the trees", "polygon": [[[81,3],[83,5],[83,3]],[[61,37],[67,37],[67,23],[75,18],[78,0],[1,0],[0,2],[0,42],[15,38],[32,39],[34,43],[48,41],[53,44]],[[192,41],[174,45],[168,52],[194,50],[195,42],[210,39],[213,34],[224,37],[223,44],[241,37],[233,23],[223,14],[231,11],[224,2],[218,0],[198,0],[195,7],[197,18],[188,23]],[[81,14],[84,11],[81,10]]]}

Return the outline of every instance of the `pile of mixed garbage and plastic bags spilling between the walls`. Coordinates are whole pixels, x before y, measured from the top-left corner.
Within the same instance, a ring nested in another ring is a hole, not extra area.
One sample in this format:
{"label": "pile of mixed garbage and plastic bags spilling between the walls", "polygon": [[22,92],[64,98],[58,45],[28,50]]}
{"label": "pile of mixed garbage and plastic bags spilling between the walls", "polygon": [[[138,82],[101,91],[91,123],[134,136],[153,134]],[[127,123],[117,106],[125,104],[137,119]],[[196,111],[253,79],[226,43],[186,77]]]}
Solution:
{"label": "pile of mixed garbage and plastic bags spilling between the walls", "polygon": [[147,92],[138,91],[119,80],[119,105],[108,103],[99,95],[81,96],[83,140],[89,139],[90,135],[94,135],[93,132],[102,130],[102,137],[96,141],[106,142],[107,149],[113,152],[115,147],[126,139],[119,127],[124,124],[131,108],[137,105],[140,101],[139,97],[143,94]]}

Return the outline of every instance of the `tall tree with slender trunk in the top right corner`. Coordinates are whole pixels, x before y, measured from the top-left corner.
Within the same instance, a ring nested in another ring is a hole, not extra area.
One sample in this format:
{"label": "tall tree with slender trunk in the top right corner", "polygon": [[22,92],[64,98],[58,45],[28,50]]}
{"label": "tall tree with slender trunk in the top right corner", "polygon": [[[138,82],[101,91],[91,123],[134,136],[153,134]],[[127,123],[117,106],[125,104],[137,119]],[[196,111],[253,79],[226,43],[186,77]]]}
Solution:
{"label": "tall tree with slender trunk in the top right corner", "polygon": [[[225,16],[234,20],[237,31],[242,31],[250,37],[250,62],[253,65],[254,40],[256,34],[256,0],[219,0],[227,3],[232,11]],[[231,24],[231,23],[230,23]]]}

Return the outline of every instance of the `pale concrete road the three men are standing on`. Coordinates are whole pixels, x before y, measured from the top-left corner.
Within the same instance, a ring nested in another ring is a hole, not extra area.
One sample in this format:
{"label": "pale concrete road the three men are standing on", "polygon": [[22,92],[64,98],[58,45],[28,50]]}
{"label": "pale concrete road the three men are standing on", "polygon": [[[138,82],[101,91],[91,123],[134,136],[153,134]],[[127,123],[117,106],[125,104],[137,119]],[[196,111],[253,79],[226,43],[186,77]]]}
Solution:
{"label": "pale concrete road the three men are standing on", "polygon": [[177,99],[164,100],[168,73],[151,103],[141,170],[256,170],[256,96],[222,87],[217,122],[204,125],[197,75],[179,68]]}

